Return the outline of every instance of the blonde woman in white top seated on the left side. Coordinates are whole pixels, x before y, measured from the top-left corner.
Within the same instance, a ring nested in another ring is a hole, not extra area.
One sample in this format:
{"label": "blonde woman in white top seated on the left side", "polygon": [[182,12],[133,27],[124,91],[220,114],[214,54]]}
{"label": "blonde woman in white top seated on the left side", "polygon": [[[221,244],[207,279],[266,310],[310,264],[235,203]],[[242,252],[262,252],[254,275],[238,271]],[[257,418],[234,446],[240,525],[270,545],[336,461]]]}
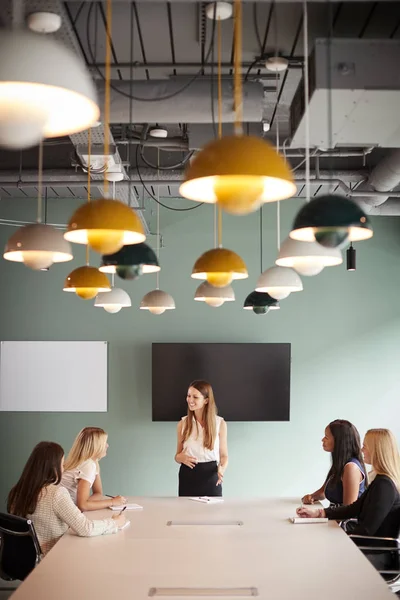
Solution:
{"label": "blonde woman in white top seated on the left side", "polygon": [[65,461],[61,480],[73,502],[82,511],[101,510],[126,503],[123,496],[104,499],[99,461],[107,454],[107,433],[100,427],[85,427],[78,433]]}

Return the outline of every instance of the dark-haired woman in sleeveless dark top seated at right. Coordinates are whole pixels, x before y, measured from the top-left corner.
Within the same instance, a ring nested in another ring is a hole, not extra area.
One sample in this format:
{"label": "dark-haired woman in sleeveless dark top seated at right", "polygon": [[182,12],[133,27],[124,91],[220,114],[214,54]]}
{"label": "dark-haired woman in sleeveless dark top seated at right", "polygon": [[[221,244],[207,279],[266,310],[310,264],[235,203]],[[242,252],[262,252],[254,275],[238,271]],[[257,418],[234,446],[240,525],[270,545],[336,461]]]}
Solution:
{"label": "dark-haired woman in sleeveless dark top seated at right", "polygon": [[329,500],[331,505],[351,504],[367,485],[367,471],[361,452],[360,434],[349,421],[337,419],[329,423],[322,447],[332,456],[332,466],[325,483],[313,494],[302,498],[303,504]]}

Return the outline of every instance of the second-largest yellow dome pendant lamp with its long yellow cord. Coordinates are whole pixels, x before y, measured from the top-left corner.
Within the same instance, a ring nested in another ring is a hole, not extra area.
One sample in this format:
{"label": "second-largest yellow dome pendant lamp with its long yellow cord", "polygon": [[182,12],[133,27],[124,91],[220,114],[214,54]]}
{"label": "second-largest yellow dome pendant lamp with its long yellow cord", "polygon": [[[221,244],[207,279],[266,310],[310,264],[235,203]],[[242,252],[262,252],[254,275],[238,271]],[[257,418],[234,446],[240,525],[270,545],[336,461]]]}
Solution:
{"label": "second-largest yellow dome pendant lamp with its long yellow cord", "polygon": [[[107,0],[104,156],[110,153],[111,19],[111,0]],[[80,206],[72,215],[64,234],[65,239],[75,244],[89,244],[100,254],[113,254],[124,245],[144,242],[146,236],[143,226],[133,209],[119,200],[108,198],[107,171],[103,188],[104,198]]]}

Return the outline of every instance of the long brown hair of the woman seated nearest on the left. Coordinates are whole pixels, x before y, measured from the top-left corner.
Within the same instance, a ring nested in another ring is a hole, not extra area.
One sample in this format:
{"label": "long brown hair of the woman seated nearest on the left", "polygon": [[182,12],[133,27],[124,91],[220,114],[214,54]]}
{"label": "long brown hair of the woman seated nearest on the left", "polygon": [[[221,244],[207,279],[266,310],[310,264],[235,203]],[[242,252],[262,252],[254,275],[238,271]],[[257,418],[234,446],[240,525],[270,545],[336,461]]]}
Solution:
{"label": "long brown hair of the woman seated nearest on the left", "polygon": [[60,483],[63,456],[64,450],[55,442],[40,442],[34,447],[18,483],[8,494],[9,513],[26,518],[35,512],[43,488]]}

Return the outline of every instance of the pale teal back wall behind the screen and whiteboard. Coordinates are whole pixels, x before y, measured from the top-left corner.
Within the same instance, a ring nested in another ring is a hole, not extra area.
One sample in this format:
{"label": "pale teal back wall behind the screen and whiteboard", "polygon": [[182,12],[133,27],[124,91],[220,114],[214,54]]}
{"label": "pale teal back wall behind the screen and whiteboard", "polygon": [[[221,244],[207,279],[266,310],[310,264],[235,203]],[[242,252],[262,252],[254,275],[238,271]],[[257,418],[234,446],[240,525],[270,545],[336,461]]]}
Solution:
{"label": "pale teal back wall behind the screen and whiteboard", "polygon": [[[299,205],[299,200],[282,203],[284,234]],[[65,222],[74,206],[50,201],[49,221]],[[34,210],[34,200],[0,201],[1,218],[34,218]],[[275,258],[275,215],[275,205],[265,207],[264,268]],[[0,261],[0,339],[107,340],[110,347],[108,413],[0,413],[0,505],[35,443],[55,440],[68,450],[86,425],[109,432],[109,455],[101,464],[107,493],[176,493],[175,425],[151,422],[152,342],[292,344],[291,420],[229,424],[226,495],[300,497],[319,487],[328,465],[320,439],[334,418],[354,421],[362,434],[379,426],[400,434],[400,220],[374,220],[374,238],[357,246],[355,273],[342,265],[304,278],[304,292],[282,301],[280,311],[256,316],[242,310],[242,303],[259,274],[257,215],[224,217],[225,246],[241,254],[250,272],[247,281],[235,284],[237,302],[213,309],[193,301],[190,271],[213,244],[212,219],[209,206],[161,211],[160,283],[177,305],[162,316],[137,308],[155,286],[151,275],[121,282],[133,307],[116,315],[63,293],[64,277],[83,264],[82,248],[74,247],[72,263],[48,273]],[[0,246],[12,231],[0,226]],[[94,255],[93,264],[97,261]],[[65,377],[73,377],[68,365]]]}

